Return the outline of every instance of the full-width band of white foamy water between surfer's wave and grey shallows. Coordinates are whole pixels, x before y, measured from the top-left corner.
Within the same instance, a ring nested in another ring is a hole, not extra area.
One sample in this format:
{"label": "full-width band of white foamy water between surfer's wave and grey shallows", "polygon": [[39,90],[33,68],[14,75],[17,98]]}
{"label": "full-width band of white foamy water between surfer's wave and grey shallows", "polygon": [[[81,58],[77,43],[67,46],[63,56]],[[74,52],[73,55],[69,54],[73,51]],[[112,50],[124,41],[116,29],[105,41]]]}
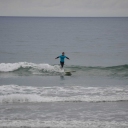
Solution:
{"label": "full-width band of white foamy water between surfer's wave and grey shallows", "polygon": [[128,101],[128,87],[31,87],[19,85],[0,86],[0,103],[120,101]]}

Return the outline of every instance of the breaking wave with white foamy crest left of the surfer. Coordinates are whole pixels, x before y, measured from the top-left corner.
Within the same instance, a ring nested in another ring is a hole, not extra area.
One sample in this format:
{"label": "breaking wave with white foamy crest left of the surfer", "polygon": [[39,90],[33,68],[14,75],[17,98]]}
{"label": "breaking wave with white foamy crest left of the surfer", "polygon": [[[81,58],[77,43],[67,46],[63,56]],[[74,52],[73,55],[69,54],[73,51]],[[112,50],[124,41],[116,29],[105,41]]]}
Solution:
{"label": "breaking wave with white foamy crest left of the surfer", "polygon": [[34,64],[28,62],[19,62],[19,63],[1,63],[0,64],[0,73],[17,73],[18,75],[43,75],[43,74],[52,74],[52,73],[61,73],[64,70],[61,70],[58,65],[49,65],[49,64]]}

